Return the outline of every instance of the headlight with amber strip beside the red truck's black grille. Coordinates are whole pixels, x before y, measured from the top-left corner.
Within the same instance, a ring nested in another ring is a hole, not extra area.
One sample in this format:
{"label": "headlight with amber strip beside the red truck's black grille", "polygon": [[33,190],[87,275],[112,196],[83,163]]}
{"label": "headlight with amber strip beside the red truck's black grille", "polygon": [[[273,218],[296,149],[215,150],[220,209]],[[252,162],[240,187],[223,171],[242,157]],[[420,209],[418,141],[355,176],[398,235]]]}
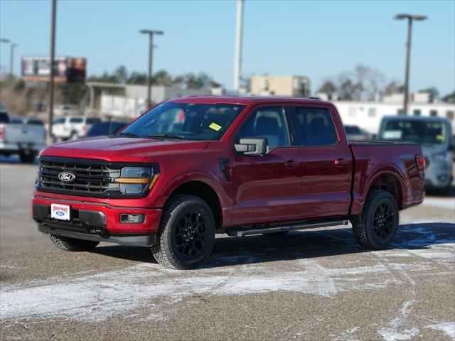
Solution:
{"label": "headlight with amber strip beside the red truck's black grille", "polygon": [[[157,174],[156,174],[157,175]],[[119,191],[123,194],[139,194],[154,177],[154,171],[148,167],[124,167],[120,177],[115,179],[119,183]]]}

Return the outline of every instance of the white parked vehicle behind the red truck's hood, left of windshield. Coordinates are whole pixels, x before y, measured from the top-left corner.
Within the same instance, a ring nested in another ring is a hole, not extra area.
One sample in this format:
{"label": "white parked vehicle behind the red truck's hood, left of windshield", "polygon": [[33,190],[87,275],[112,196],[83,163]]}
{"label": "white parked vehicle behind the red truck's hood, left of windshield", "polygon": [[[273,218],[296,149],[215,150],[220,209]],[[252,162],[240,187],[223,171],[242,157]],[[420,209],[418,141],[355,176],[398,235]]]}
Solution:
{"label": "white parked vehicle behind the red truck's hood, left of windshield", "polygon": [[68,116],[54,119],[52,134],[54,139],[79,139],[85,136],[92,124],[100,122],[97,117]]}

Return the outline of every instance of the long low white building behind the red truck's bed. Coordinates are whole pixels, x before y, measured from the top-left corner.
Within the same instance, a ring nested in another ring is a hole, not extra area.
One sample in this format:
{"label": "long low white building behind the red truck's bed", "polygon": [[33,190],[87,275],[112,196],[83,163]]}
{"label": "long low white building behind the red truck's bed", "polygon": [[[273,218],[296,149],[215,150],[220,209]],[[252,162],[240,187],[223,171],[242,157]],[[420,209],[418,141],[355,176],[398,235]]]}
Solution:
{"label": "long low white building behind the red truck's bed", "polygon": [[[371,134],[378,134],[382,117],[402,114],[402,102],[333,101],[343,124],[360,126]],[[411,102],[409,114],[414,116],[445,117],[455,131],[455,104]]]}

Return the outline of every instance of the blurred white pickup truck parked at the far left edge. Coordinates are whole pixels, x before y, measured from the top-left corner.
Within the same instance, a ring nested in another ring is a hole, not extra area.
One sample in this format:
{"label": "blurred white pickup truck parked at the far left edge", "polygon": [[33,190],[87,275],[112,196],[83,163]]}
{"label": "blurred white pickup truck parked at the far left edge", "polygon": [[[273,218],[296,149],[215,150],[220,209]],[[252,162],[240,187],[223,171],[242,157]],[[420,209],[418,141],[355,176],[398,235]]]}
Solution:
{"label": "blurred white pickup truck parked at the far left edge", "polygon": [[45,144],[45,128],[39,124],[11,123],[8,112],[0,110],[0,155],[18,154],[23,163],[33,163]]}

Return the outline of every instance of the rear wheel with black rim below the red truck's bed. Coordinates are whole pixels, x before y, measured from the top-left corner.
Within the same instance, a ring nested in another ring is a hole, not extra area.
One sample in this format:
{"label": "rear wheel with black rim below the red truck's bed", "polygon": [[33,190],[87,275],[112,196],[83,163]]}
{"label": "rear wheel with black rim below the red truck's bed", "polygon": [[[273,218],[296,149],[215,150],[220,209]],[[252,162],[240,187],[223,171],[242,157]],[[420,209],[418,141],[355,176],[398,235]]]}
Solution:
{"label": "rear wheel with black rim below the red truck's bed", "polygon": [[385,249],[398,230],[398,205],[385,190],[371,190],[362,212],[352,221],[353,234],[361,247]]}

